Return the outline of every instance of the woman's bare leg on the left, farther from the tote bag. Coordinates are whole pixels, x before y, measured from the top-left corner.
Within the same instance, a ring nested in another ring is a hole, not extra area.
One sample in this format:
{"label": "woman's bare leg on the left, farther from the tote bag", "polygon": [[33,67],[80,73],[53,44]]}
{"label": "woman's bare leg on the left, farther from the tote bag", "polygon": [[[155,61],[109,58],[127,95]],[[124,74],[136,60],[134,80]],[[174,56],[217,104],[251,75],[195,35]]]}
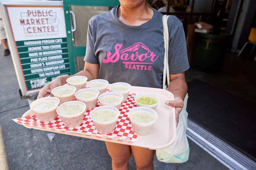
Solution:
{"label": "woman's bare leg on the left, farther from the tote bag", "polygon": [[112,169],[128,170],[128,162],[131,156],[131,147],[124,144],[105,142],[109,155],[112,158]]}

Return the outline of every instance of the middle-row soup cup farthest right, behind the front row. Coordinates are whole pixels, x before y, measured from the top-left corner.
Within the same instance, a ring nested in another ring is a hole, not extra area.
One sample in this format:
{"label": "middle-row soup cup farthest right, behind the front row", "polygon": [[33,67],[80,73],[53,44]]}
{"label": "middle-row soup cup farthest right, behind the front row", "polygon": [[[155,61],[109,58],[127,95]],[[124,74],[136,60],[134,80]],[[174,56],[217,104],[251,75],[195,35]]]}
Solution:
{"label": "middle-row soup cup farthest right, behind the front row", "polygon": [[[117,96],[117,97],[115,97],[115,96]],[[110,97],[108,99],[109,102],[105,102],[105,100],[103,100],[102,97]],[[113,97],[115,97],[115,98],[113,98]],[[122,100],[124,99],[124,96],[117,92],[106,92],[106,93],[102,93],[101,95],[99,95],[98,99],[99,99],[101,106],[113,106],[119,110],[120,106],[122,104]]]}

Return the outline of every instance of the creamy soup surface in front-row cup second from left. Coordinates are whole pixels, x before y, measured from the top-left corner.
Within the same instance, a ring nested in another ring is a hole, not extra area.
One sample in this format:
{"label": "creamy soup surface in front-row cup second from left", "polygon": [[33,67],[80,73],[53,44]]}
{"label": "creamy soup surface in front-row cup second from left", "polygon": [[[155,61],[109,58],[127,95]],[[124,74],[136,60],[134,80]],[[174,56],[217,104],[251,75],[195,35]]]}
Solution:
{"label": "creamy soup surface in front-row cup second from left", "polygon": [[58,112],[64,116],[76,115],[84,110],[82,104],[66,104],[58,109]]}

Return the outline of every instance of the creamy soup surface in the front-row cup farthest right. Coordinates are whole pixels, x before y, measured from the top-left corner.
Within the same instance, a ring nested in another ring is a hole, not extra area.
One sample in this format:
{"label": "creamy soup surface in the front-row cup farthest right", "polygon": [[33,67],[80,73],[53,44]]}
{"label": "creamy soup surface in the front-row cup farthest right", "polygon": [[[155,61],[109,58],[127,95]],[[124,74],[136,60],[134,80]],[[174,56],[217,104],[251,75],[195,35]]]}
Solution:
{"label": "creamy soup surface in the front-row cup farthest right", "polygon": [[156,119],[156,116],[154,116],[150,112],[140,110],[140,111],[136,111],[136,112],[131,113],[130,118],[134,122],[149,123],[149,122],[153,122]]}

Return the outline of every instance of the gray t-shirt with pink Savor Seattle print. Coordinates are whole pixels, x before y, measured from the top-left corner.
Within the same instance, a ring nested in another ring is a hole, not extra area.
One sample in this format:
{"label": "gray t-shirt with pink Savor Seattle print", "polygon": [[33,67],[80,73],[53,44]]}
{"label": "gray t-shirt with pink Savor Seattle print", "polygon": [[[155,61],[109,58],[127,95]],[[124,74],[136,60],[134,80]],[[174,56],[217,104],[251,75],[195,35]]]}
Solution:
{"label": "gray t-shirt with pink Savor Seattle print", "polygon": [[[99,79],[109,83],[126,82],[134,86],[162,88],[164,35],[162,14],[140,26],[128,26],[118,19],[118,7],[89,20],[84,60],[99,64]],[[181,21],[168,18],[170,74],[189,69],[186,39]]]}

